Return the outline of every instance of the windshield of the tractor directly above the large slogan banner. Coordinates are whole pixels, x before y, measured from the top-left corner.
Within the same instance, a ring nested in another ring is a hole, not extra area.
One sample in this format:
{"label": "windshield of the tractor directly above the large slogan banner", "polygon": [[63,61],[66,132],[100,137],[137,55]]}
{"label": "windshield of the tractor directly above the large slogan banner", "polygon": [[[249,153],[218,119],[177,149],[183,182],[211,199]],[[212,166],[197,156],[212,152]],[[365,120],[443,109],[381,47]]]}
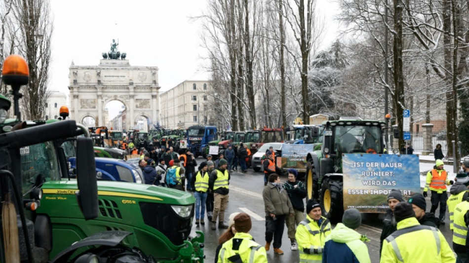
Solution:
{"label": "windshield of the tractor directly above the large slogan banner", "polygon": [[382,152],[381,127],[378,126],[336,126],[334,150],[341,153]]}

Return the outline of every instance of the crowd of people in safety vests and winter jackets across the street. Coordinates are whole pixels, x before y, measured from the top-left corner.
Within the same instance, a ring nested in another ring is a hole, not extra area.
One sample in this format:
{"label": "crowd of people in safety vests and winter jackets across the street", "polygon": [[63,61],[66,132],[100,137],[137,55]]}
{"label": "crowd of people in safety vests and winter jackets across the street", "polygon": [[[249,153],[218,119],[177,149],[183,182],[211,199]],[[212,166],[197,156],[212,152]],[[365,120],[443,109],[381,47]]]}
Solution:
{"label": "crowd of people in safety vests and winter jackets across the street", "polygon": [[[242,147],[244,149],[244,147]],[[137,150],[137,149],[134,149]],[[409,150],[409,149],[407,149]],[[205,225],[205,214],[211,229],[226,229],[219,237],[215,263],[267,262],[267,252],[282,255],[282,236],[285,225],[292,251],[298,251],[300,262],[312,263],[369,263],[371,262],[366,236],[356,230],[361,225],[361,214],[356,209],[344,212],[342,223],[332,229],[328,219],[322,216],[319,203],[313,199],[305,202],[305,185],[297,180],[298,172],[288,170],[288,181],[280,182],[279,168],[274,162],[274,150],[266,151],[264,166],[265,188],[265,245],[254,241],[249,231],[251,218],[245,213],[230,215],[225,225],[225,211],[229,201],[231,173],[237,170],[236,156],[229,147],[214,162],[212,156],[198,164],[190,149],[174,152],[173,148],[155,147],[135,152],[141,155],[139,166],[145,184],[193,191],[195,196],[195,225]],[[197,169],[195,169],[197,167]],[[246,171],[245,162],[240,165]],[[384,219],[380,244],[380,262],[461,262],[469,263],[466,240],[469,226],[469,161],[464,161],[463,171],[455,181],[448,180],[443,162],[437,159],[434,169],[427,174],[423,194],[414,194],[405,202],[398,190],[388,195],[389,209]],[[168,175],[174,174],[174,180]],[[446,186],[453,185],[450,196]],[[430,212],[426,212],[428,191],[431,193]],[[435,213],[439,206],[439,216]],[[439,232],[444,224],[446,209],[453,229],[453,250]],[[306,212],[306,213],[305,213]],[[434,245],[436,244],[436,246]],[[469,246],[468,246],[469,247]],[[251,261],[249,261],[251,259]]]}

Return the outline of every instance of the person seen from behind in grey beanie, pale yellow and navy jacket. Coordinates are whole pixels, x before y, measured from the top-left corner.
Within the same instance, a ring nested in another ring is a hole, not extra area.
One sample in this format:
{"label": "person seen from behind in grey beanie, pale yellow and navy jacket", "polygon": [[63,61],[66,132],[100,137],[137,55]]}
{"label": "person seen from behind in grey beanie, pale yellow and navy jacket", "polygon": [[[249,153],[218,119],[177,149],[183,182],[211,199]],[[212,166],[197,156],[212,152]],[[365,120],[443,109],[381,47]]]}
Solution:
{"label": "person seen from behind in grey beanie, pale yellow and navy jacket", "polygon": [[355,231],[361,225],[361,214],[355,208],[345,210],[339,223],[326,237],[322,263],[371,263],[366,236]]}

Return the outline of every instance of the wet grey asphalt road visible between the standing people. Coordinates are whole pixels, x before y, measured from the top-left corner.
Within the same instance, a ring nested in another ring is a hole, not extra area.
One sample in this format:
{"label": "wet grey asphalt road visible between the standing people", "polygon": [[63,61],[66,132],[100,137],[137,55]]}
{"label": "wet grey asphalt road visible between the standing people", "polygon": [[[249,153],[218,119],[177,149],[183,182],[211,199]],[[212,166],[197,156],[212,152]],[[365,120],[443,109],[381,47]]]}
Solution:
{"label": "wet grey asphalt road visible between the standing people", "polygon": [[[200,161],[202,160],[199,158]],[[252,229],[250,234],[255,241],[261,246],[265,245],[265,212],[264,201],[262,198],[262,190],[264,189],[263,173],[258,173],[248,169],[247,173],[233,172],[230,180],[230,194],[227,211],[225,214],[225,224],[228,225],[228,218],[231,213],[245,212],[251,216]],[[281,182],[286,182],[287,177],[281,176]],[[430,196],[427,198],[427,211],[430,210]],[[436,214],[438,215],[438,211]],[[205,216],[205,221],[208,219]],[[446,213],[446,224],[440,226],[440,231],[452,247],[452,232],[449,229],[449,215]],[[366,234],[370,242],[366,242],[372,263],[379,263],[380,251],[380,235],[382,229],[382,216],[378,214],[362,214],[362,225],[358,228],[358,232]],[[333,225],[334,227],[335,225]],[[214,262],[215,250],[218,246],[218,237],[225,229],[210,229],[210,225],[196,226],[193,225],[192,232],[195,236],[195,230],[200,230],[205,235],[204,254],[206,263]],[[291,251],[290,240],[287,235],[287,227],[285,225],[282,246],[284,255],[274,254],[273,249],[267,252],[268,261],[271,263],[298,263],[298,251]]]}

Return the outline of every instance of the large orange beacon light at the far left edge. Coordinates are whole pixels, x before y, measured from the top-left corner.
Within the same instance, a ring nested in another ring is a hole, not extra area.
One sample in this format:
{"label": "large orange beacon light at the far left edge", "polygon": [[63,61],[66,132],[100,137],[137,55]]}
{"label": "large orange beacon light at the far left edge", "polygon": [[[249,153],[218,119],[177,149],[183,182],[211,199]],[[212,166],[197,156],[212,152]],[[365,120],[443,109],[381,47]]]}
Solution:
{"label": "large orange beacon light at the far left edge", "polygon": [[29,80],[29,68],[26,60],[19,55],[9,55],[5,62],[3,62],[3,69],[1,71],[3,75],[3,82],[7,85],[11,85],[13,90],[21,85],[28,84]]}

